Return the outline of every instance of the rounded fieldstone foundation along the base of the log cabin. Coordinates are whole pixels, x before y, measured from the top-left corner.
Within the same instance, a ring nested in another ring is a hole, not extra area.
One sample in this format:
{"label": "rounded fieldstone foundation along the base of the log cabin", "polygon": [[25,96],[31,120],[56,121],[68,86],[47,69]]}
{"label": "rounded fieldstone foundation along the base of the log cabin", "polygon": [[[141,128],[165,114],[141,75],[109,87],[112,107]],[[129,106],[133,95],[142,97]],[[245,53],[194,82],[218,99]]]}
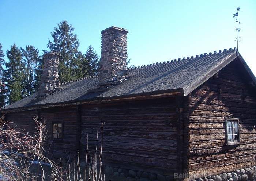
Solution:
{"label": "rounded fieldstone foundation along the base of the log cabin", "polygon": [[[104,172],[114,176],[126,177],[127,181],[178,181],[184,180],[184,176],[187,176],[186,174],[177,173],[174,173],[173,176],[164,176],[161,174],[121,169],[110,166],[106,166]],[[185,178],[185,180],[187,179]],[[207,176],[204,178],[198,178],[192,181],[256,181],[256,166],[236,170],[234,172],[227,172],[218,175]]]}

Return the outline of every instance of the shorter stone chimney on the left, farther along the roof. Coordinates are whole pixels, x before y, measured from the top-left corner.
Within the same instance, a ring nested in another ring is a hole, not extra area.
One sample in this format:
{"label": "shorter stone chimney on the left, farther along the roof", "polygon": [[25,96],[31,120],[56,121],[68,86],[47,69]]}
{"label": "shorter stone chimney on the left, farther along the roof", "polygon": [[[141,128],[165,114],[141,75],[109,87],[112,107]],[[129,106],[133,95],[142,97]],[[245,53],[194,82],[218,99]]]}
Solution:
{"label": "shorter stone chimney on the left, farther along the roof", "polygon": [[59,58],[60,55],[56,52],[49,52],[44,55],[44,68],[37,98],[43,99],[61,89],[58,74]]}

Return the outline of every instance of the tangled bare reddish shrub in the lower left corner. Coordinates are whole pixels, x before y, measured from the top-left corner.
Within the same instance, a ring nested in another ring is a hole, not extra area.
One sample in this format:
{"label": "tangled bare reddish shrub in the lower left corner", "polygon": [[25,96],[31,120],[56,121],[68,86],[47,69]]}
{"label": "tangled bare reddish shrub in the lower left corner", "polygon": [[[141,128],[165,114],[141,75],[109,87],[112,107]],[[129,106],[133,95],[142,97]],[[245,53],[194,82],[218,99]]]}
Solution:
{"label": "tangled bare reddish shrub in the lower left corner", "polygon": [[[34,117],[34,134],[18,132],[0,118],[0,174],[3,180],[61,180],[60,167],[44,155],[45,123]],[[7,127],[3,129],[3,127]],[[37,164],[35,166],[35,164]],[[35,169],[36,168],[36,169]],[[48,170],[47,174],[45,170]],[[50,173],[50,174],[48,174]]]}

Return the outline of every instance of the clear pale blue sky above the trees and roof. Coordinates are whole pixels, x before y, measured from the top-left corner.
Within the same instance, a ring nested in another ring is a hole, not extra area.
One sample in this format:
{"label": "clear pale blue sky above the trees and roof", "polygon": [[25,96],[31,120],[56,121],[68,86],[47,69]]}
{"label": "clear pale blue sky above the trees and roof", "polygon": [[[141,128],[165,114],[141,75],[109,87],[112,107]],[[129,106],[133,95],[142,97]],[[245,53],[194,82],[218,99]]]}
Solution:
{"label": "clear pale blue sky above the trees and roof", "polygon": [[128,59],[141,66],[236,47],[238,6],[238,50],[256,75],[255,0],[0,0],[0,43],[4,54],[14,43],[42,54],[67,20],[80,50],[92,45],[100,55],[101,31],[118,26],[129,31]]}

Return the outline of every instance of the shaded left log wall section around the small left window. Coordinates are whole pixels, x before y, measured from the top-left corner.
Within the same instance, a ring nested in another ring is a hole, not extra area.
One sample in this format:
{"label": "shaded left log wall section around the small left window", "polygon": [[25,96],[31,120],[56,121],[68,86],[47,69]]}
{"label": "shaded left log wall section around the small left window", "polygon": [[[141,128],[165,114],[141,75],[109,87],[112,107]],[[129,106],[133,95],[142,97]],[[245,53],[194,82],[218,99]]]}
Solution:
{"label": "shaded left log wall section around the small left window", "polygon": [[[8,125],[12,128],[15,127],[17,131],[23,130],[25,132],[30,132],[30,134],[34,134],[36,131],[36,123],[33,117],[38,113],[40,114],[39,119],[46,123],[47,135],[44,145],[46,151],[49,151],[49,154],[55,154],[58,157],[76,154],[76,106],[7,113],[5,115],[5,121],[10,122]],[[53,121],[63,121],[63,141],[52,141]]]}

